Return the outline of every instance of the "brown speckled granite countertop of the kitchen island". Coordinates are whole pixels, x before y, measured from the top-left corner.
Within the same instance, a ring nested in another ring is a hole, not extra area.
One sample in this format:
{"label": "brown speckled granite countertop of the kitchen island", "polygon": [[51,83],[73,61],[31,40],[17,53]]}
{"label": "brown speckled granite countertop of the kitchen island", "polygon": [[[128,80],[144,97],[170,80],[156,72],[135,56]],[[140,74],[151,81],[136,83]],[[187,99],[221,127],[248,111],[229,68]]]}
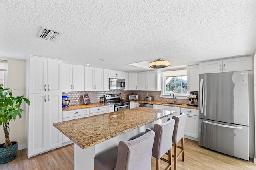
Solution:
{"label": "brown speckled granite countertop of the kitchen island", "polygon": [[86,149],[173,113],[173,111],[136,107],[54,123],[53,126],[80,148]]}

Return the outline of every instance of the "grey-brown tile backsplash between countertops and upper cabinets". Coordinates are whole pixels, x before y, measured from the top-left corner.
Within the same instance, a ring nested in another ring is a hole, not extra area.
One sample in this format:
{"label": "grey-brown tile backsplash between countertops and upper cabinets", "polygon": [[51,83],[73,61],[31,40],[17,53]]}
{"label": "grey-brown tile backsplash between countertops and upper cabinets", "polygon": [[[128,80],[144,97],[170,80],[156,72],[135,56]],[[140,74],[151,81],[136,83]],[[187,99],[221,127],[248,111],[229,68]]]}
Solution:
{"label": "grey-brown tile backsplash between countertops and upper cabinets", "polygon": [[[144,100],[145,96],[148,94],[149,96],[154,96],[154,101],[172,102],[170,98],[161,98],[161,91],[123,91],[123,90],[110,90],[110,91],[76,91],[76,92],[63,92],[62,95],[68,96],[70,100],[69,105],[83,105],[84,100],[83,96],[88,93],[90,97],[91,103],[100,103],[100,97],[106,94],[120,94],[122,99],[128,99],[128,95],[131,93],[138,94],[139,100]],[[188,103],[188,99],[176,99],[176,103]]]}

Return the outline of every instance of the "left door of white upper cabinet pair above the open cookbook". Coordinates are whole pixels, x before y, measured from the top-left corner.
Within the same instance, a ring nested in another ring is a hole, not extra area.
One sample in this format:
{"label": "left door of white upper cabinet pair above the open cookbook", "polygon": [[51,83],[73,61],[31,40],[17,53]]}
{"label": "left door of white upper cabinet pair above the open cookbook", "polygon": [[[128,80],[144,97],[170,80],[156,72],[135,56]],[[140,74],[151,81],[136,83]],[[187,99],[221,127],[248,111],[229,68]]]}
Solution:
{"label": "left door of white upper cabinet pair above the open cookbook", "polygon": [[94,67],[84,67],[84,90],[94,91]]}

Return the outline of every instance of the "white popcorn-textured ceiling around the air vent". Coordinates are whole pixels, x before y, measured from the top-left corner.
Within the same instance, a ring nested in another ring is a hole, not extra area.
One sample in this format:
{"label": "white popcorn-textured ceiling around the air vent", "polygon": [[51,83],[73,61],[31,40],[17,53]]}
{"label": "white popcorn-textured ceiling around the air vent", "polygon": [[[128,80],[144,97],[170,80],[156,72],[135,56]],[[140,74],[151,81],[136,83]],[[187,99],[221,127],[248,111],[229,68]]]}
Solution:
{"label": "white popcorn-textured ceiling around the air vent", "polygon": [[[62,34],[37,38],[42,26]],[[144,71],[129,64],[168,57],[193,64],[255,50],[255,0],[0,1],[0,57]]]}

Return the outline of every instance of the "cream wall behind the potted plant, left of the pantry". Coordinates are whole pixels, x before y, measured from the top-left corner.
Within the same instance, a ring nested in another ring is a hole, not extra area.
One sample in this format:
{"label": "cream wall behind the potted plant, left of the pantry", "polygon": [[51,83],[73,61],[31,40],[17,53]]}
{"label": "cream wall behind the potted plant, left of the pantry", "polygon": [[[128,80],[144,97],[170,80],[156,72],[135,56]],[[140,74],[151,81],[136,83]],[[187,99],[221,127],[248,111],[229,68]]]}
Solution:
{"label": "cream wall behind the potted plant, left of the pantry", "polygon": [[[25,96],[26,91],[26,64],[24,60],[2,58],[8,61],[8,87],[12,89],[12,96]],[[16,117],[15,121],[10,121],[10,140],[18,142],[18,150],[25,148],[25,102],[22,102],[22,118]],[[4,131],[0,127],[0,143],[4,143]]]}

